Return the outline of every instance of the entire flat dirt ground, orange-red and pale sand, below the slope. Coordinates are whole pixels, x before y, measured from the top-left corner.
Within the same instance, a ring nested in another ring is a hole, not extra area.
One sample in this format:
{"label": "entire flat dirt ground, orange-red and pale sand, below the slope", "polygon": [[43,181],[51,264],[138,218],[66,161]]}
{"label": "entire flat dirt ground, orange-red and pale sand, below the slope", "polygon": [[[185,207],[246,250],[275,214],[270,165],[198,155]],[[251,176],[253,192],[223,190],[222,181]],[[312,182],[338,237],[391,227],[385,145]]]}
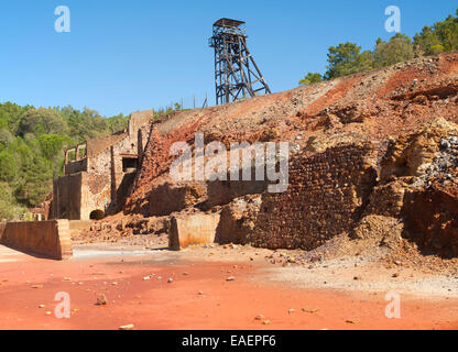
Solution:
{"label": "entire flat dirt ground, orange-red and pale sand, below the slope", "polygon": [[[230,245],[171,252],[98,244],[76,246],[72,261],[56,262],[0,246],[0,329],[458,328],[458,275],[357,257],[272,264],[273,254],[288,255]],[[62,292],[69,294],[69,319],[54,314]],[[389,292],[400,295],[400,319],[385,316]],[[99,295],[106,305],[96,305]]]}

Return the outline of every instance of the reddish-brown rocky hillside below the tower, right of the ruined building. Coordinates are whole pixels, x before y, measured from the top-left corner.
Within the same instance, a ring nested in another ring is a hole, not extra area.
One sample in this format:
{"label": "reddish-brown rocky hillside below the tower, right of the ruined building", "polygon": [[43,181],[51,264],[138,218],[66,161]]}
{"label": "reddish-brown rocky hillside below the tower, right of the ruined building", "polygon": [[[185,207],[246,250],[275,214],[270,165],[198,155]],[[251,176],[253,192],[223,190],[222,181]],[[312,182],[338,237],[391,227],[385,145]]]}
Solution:
{"label": "reddish-brown rocky hillside below the tower, right of the ruined building", "polygon": [[[171,215],[217,212],[222,242],[315,250],[345,235],[408,241],[424,253],[458,256],[457,94],[452,52],[176,113],[152,124],[124,216],[140,219],[130,223],[137,233],[166,232]],[[196,132],[227,146],[288,142],[288,189],[174,183],[171,145],[192,145]]]}

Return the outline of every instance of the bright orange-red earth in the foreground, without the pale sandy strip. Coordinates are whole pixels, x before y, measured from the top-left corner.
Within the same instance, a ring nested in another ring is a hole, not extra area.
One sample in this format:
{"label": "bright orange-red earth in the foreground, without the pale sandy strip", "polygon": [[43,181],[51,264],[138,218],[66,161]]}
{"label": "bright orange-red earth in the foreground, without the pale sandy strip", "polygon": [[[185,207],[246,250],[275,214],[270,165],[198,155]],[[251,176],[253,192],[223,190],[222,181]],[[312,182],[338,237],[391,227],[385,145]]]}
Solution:
{"label": "bright orange-red earth in the foreground, without the pale sandy strip", "polygon": [[[56,262],[0,246],[0,329],[119,329],[131,323],[167,330],[458,328],[456,299],[404,297],[401,319],[388,319],[384,294],[250,279],[265,265],[175,261],[173,255],[160,261],[154,253]],[[151,279],[144,280],[148,275]],[[236,279],[228,282],[229,276]],[[69,319],[54,315],[59,292],[69,294]],[[108,299],[106,306],[96,305],[100,294]],[[313,312],[302,310],[306,307]],[[255,320],[259,315],[270,323]]]}

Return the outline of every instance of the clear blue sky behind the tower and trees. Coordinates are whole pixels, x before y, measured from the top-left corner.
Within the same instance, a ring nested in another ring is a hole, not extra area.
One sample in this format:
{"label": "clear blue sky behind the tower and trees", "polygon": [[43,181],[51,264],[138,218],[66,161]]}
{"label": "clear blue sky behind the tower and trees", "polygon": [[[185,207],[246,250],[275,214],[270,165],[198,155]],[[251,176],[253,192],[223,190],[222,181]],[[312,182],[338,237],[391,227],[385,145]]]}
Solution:
{"label": "clear blue sky behind the tower and trees", "polygon": [[[402,11],[402,32],[455,14],[456,0],[1,0],[0,101],[89,107],[103,116],[170,105],[214,103],[208,47],[219,18],[247,22],[249,47],[273,91],[326,69],[330,45],[364,50],[388,40],[384,9]],[[56,33],[54,9],[70,9],[70,33]]]}

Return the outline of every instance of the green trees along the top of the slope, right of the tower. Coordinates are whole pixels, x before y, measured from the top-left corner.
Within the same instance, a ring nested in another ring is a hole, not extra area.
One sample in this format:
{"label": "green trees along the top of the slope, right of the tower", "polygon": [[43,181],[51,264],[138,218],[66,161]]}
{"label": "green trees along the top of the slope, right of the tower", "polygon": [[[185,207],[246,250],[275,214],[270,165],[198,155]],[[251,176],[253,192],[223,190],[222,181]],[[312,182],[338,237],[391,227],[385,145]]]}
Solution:
{"label": "green trees along the top of the slope, right of the tower", "polygon": [[[458,9],[456,11],[458,15]],[[458,50],[458,18],[448,15],[432,26],[424,26],[413,38],[396,33],[388,42],[378,38],[372,51],[361,52],[361,46],[347,42],[330,46],[327,54],[327,70],[324,75],[308,73],[299,80],[308,86],[341,76],[368,72],[394,65],[424,55],[436,55]]]}

